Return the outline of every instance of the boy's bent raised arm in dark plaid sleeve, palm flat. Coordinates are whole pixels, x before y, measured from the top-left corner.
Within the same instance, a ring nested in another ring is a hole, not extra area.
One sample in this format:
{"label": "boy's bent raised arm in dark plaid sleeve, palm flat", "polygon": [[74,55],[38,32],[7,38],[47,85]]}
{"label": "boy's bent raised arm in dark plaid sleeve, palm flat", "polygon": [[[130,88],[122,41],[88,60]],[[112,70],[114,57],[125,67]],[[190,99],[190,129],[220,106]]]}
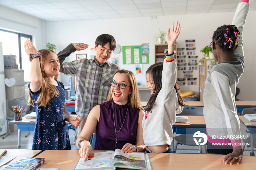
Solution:
{"label": "boy's bent raised arm in dark plaid sleeve, palm flat", "polygon": [[68,57],[71,53],[74,53],[76,50],[81,51],[81,50],[87,49],[88,46],[89,45],[87,45],[85,43],[71,43],[65,49],[60,51],[58,53],[58,58],[60,61],[60,72],[65,73],[63,62],[66,57]]}

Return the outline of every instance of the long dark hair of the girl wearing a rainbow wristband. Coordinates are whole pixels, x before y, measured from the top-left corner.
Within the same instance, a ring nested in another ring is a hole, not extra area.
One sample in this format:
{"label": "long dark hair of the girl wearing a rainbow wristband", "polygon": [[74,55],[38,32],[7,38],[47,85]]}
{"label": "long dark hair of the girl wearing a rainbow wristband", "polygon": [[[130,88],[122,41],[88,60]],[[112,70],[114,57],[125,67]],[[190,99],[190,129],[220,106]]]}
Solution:
{"label": "long dark hair of the girl wearing a rainbow wristband", "polygon": [[[163,71],[163,62],[157,62],[153,65],[151,65],[146,72],[146,75],[150,73],[153,77],[154,81],[154,92],[151,95],[147,105],[146,105],[146,111],[150,111],[151,108],[155,105],[155,100],[157,98],[158,93],[162,89],[162,71]],[[177,96],[178,96],[178,103],[181,106],[184,106],[183,98],[180,95],[180,85],[178,83],[178,80],[176,80],[176,84],[174,85],[174,88],[176,90]]]}

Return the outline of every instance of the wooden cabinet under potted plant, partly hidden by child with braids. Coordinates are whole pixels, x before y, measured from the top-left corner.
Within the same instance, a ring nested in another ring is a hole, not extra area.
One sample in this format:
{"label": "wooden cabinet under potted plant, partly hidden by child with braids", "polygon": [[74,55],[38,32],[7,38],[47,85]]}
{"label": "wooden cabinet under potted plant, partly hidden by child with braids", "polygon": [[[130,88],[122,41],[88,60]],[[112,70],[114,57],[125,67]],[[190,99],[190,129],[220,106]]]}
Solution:
{"label": "wooden cabinet under potted plant, partly hidden by child with braids", "polygon": [[215,59],[204,59],[204,62],[201,63],[202,65],[199,65],[199,98],[200,101],[202,102],[204,101],[204,82],[206,81],[206,78],[210,74],[211,68],[214,66],[211,64],[214,61]]}

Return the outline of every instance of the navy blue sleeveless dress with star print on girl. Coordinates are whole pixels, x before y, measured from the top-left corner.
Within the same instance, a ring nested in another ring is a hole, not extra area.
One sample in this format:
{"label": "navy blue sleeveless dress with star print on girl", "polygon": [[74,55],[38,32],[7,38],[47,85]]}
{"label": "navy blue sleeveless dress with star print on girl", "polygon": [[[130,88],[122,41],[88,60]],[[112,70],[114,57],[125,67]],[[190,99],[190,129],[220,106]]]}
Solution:
{"label": "navy blue sleeveless dress with star print on girl", "polygon": [[38,103],[35,103],[41,90],[33,93],[30,90],[30,83],[28,85],[37,113],[32,150],[71,149],[64,117],[64,85],[60,81],[57,82],[58,86],[56,88],[60,95],[53,97],[46,107],[39,107]]}

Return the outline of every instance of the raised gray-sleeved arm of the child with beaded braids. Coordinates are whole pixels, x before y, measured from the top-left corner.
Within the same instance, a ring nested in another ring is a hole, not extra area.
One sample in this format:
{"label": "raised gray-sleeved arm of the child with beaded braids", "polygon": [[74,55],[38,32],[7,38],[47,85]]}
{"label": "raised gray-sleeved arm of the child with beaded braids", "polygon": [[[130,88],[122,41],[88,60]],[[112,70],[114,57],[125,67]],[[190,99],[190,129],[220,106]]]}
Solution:
{"label": "raised gray-sleeved arm of the child with beaded braids", "polygon": [[236,50],[234,50],[234,59],[237,61],[241,61],[242,65],[244,67],[244,50],[243,50],[243,29],[245,24],[245,19],[248,14],[250,5],[249,0],[241,0],[241,2],[238,4],[236,13],[233,18],[232,24],[235,25],[239,32],[240,32],[240,38],[237,38],[238,41],[238,47]]}

